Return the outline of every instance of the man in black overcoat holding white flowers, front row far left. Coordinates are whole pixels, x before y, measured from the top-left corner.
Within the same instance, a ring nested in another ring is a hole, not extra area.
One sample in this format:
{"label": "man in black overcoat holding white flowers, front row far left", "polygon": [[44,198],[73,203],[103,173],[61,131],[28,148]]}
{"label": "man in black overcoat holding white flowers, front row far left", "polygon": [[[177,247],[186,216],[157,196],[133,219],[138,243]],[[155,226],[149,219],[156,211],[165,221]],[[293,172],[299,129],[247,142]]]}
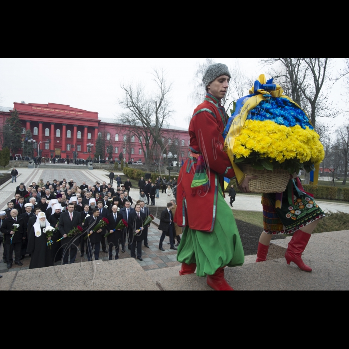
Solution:
{"label": "man in black overcoat holding white flowers, front row far left", "polygon": [[[16,232],[13,231],[13,224],[19,224]],[[10,217],[2,223],[1,233],[5,236],[7,269],[12,268],[13,250],[15,255],[14,264],[22,266],[23,264],[20,262],[20,251],[22,242],[26,239],[27,234],[24,219],[18,216],[18,211],[15,208],[11,210]],[[11,236],[13,236],[12,243]]]}

